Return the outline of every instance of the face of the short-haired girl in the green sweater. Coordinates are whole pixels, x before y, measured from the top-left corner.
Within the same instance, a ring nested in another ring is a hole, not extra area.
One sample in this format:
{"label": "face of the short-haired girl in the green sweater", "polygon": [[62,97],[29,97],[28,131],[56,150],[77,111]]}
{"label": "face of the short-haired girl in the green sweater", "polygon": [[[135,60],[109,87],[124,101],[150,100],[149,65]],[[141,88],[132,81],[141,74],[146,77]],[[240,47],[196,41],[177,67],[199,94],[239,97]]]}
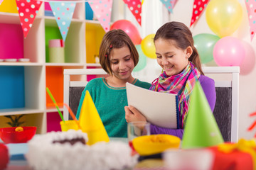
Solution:
{"label": "face of the short-haired girl in the green sweater", "polygon": [[110,67],[112,74],[117,79],[128,80],[132,78],[134,61],[127,45],[121,48],[113,48],[110,52]]}

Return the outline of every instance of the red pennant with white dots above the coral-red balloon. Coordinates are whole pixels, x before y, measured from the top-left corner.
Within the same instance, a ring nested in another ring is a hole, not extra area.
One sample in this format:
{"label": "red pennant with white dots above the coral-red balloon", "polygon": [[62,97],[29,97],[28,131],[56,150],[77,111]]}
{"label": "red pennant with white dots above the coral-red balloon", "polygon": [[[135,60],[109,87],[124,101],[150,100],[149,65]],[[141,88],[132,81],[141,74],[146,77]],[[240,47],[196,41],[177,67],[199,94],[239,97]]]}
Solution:
{"label": "red pennant with white dots above the coral-red balloon", "polygon": [[127,4],[129,11],[135,16],[137,22],[142,26],[142,1],[141,0],[123,0]]}

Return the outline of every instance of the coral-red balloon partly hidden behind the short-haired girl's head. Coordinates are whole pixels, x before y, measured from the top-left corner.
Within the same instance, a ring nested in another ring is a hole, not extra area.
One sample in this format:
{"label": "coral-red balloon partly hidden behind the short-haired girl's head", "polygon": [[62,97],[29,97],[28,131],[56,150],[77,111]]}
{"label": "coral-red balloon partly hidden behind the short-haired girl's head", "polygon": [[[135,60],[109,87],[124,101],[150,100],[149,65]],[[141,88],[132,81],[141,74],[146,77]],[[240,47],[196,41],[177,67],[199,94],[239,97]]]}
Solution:
{"label": "coral-red balloon partly hidden behind the short-haired girl's head", "polygon": [[129,38],[132,39],[132,42],[134,42],[134,45],[139,45],[142,41],[141,36],[139,35],[139,31],[137,30],[136,26],[128,20],[118,20],[113,23],[113,25],[110,27],[110,30],[115,29],[121,29],[124,30],[127,35],[129,35]]}

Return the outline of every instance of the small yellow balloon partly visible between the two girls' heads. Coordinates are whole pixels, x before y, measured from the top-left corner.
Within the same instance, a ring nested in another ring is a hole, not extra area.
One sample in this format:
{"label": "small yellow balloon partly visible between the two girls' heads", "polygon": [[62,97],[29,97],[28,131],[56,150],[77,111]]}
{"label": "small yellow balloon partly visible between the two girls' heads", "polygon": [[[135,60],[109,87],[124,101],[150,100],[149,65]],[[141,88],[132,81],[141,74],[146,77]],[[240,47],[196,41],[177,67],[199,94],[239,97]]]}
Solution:
{"label": "small yellow balloon partly visible between the two girls' heads", "polygon": [[155,34],[147,35],[141,42],[142,52],[146,57],[156,58],[156,48],[154,46],[154,36]]}

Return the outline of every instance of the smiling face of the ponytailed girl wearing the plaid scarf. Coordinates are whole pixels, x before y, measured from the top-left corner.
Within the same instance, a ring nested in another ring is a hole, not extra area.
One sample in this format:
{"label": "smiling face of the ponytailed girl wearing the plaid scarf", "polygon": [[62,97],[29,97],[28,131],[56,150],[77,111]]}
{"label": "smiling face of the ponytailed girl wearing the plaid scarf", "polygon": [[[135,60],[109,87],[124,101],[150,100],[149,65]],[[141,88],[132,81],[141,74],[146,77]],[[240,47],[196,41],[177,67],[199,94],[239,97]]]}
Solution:
{"label": "smiling face of the ponytailed girl wearing the plaid scarf", "polygon": [[176,46],[174,40],[165,40],[162,38],[155,41],[155,47],[156,60],[168,76],[182,72],[188,65],[188,58],[193,52],[190,46],[182,50]]}

